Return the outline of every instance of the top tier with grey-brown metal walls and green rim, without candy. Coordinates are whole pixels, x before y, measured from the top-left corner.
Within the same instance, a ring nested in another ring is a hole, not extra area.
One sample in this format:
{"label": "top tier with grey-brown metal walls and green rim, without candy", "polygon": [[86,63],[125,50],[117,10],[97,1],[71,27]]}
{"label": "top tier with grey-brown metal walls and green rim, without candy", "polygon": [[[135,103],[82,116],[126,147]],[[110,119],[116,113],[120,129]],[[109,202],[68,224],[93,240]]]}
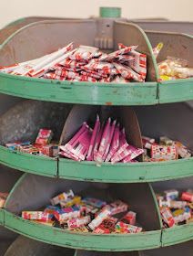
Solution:
{"label": "top tier with grey-brown metal walls and green rim, without candy", "polygon": [[[105,36],[101,36],[101,29],[105,29]],[[70,41],[74,41],[75,46],[95,46],[97,43],[103,50],[113,50],[117,43],[122,42],[125,45],[138,45],[137,49],[147,54],[147,81],[128,84],[70,82],[0,73],[0,92],[26,99],[92,105],[154,105],[192,100],[193,79],[157,82],[157,61],[152,46],[160,40],[166,48],[162,58],[167,58],[164,54],[168,52],[175,57],[180,54],[180,58],[188,59],[189,64],[192,64],[189,53],[193,48],[193,40],[187,35],[146,34],[135,24],[112,19],[39,21],[18,29],[4,41],[0,49],[0,65],[36,59]]]}

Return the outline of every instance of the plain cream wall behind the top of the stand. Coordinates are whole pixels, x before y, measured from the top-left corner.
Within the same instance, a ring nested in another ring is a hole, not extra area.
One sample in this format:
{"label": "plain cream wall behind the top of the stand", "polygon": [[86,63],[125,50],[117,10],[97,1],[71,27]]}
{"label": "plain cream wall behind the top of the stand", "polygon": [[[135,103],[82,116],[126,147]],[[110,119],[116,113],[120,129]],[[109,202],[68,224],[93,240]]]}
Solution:
{"label": "plain cream wall behind the top of the stand", "polygon": [[0,27],[24,16],[98,16],[99,6],[120,6],[130,18],[193,21],[193,0],[0,0]]}

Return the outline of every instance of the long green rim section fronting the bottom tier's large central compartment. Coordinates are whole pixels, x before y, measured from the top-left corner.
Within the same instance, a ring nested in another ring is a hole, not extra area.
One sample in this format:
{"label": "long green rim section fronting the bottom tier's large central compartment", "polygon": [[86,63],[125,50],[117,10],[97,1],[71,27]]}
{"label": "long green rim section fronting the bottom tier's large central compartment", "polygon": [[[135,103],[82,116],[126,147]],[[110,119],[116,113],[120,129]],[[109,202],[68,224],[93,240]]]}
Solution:
{"label": "long green rim section fronting the bottom tier's large central compartment", "polygon": [[92,251],[139,251],[158,248],[161,237],[161,230],[127,235],[73,233],[33,223],[6,210],[5,228],[49,244]]}

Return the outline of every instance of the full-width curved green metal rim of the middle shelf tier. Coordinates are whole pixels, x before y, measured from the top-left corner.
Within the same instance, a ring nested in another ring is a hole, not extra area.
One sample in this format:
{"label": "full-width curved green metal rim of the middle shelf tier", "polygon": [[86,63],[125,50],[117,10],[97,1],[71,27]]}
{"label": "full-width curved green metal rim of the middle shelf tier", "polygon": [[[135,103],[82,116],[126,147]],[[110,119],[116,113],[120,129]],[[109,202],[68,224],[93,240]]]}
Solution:
{"label": "full-width curved green metal rim of the middle shelf tier", "polygon": [[0,163],[25,173],[71,180],[110,183],[154,182],[193,176],[193,157],[177,161],[103,164],[53,159],[11,151],[0,146]]}

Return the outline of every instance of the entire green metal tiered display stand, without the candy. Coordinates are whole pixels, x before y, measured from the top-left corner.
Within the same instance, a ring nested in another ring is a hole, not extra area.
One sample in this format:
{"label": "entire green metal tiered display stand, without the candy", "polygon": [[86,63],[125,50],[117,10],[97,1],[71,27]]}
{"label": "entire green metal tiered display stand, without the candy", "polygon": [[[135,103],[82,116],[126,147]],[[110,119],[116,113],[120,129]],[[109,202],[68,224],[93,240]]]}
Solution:
{"label": "entire green metal tiered display stand, without the candy", "polygon": [[[193,176],[193,157],[163,163],[146,163],[143,157],[139,157],[139,162],[135,164],[107,163],[97,166],[94,162],[79,163],[58,157],[26,155],[5,148],[7,142],[35,140],[36,133],[43,126],[49,126],[55,133],[55,139],[64,144],[82,122],[94,120],[99,112],[104,119],[107,114],[118,117],[126,127],[128,141],[137,147],[142,146],[142,133],[156,138],[167,135],[193,149],[193,112],[186,102],[193,100],[193,79],[160,82],[152,48],[162,41],[165,47],[158,61],[172,55],[188,59],[190,66],[193,66],[190,54],[193,50],[192,37],[178,33],[145,32],[134,23],[120,18],[119,12],[119,8],[112,9],[110,13],[101,9],[102,18],[82,20],[30,17],[3,29],[6,39],[1,42],[0,65],[36,59],[70,41],[74,41],[75,45],[100,45],[107,51],[116,49],[117,43],[122,42],[138,45],[138,50],[147,54],[147,81],[84,83],[0,73],[0,99],[3,99],[0,101],[0,163],[4,170],[0,173],[0,185],[2,183],[10,192],[5,207],[0,209],[0,225],[4,230],[6,228],[41,241],[38,245],[42,246],[41,252],[52,244],[72,249],[64,251],[64,255],[70,255],[76,249],[76,256],[157,256],[163,251],[165,255],[170,255],[171,245],[189,241],[176,245],[178,250],[173,246],[172,250],[178,255],[178,251],[188,248],[186,256],[192,255],[192,223],[164,229],[155,193],[165,187],[179,190],[193,188],[190,177]],[[50,35],[56,37],[50,39]],[[166,181],[177,178],[183,179]],[[154,181],[160,182],[148,183]],[[107,195],[110,198],[118,196],[137,211],[138,222],[144,231],[127,235],[75,233],[20,217],[22,210],[41,208],[50,197],[69,188],[83,196],[88,191],[93,197],[107,199]],[[15,233],[11,232],[12,235]],[[35,250],[37,241],[31,245],[34,249],[30,249],[30,242],[19,237],[5,255],[12,255],[12,251],[22,242],[24,255],[29,250]]]}

